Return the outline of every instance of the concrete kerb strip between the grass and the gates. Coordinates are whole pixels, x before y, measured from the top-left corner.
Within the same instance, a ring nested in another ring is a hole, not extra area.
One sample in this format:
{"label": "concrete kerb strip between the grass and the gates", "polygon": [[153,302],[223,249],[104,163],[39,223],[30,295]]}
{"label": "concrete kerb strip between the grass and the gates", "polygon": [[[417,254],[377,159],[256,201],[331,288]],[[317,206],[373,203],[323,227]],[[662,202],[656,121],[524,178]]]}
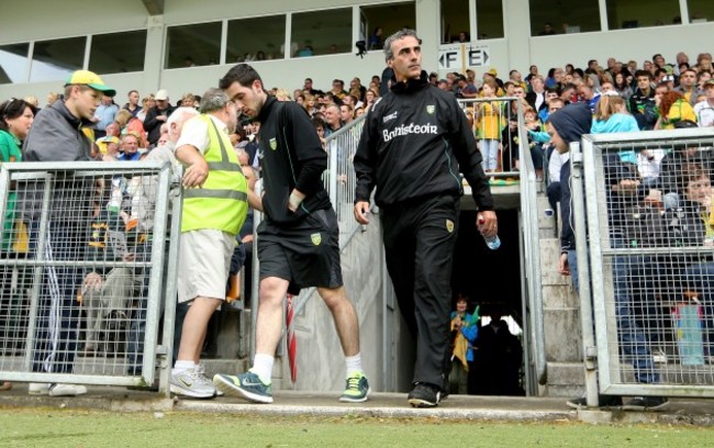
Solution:
{"label": "concrete kerb strip between the grass and the gates", "polygon": [[81,396],[29,395],[27,387],[15,383],[0,392],[0,407],[57,407],[110,412],[177,411],[235,413],[270,416],[375,416],[434,417],[495,422],[582,421],[592,424],[652,423],[667,425],[714,426],[714,400],[672,399],[660,412],[620,410],[572,410],[559,397],[450,395],[438,407],[413,408],[405,393],[371,393],[365,403],[341,403],[338,392],[277,391],[275,403],[254,404],[221,396],[213,400],[180,400],[156,392],[133,391],[118,387],[89,387]]}

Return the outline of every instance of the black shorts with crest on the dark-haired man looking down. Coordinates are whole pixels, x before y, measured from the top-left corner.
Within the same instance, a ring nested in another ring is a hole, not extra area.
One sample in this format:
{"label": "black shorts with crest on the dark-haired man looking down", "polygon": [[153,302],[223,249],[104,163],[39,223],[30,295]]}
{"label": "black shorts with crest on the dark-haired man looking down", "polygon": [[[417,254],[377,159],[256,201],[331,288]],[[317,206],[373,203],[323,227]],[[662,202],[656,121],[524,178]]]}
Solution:
{"label": "black shorts with crest on the dark-haired man looking down", "polygon": [[289,226],[263,221],[258,226],[258,261],[260,280],[288,280],[290,294],[299,294],[300,289],[309,287],[342,287],[335,211],[319,210]]}

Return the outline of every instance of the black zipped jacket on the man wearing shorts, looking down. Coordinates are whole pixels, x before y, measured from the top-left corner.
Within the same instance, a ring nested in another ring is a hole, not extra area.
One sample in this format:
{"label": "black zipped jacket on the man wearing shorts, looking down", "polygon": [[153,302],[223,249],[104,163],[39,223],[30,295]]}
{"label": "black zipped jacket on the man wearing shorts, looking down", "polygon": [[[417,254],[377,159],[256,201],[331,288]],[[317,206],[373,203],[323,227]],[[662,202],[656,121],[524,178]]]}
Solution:
{"label": "black zipped jacket on the man wearing shorts, looking down", "polygon": [[[322,148],[310,116],[298,103],[268,97],[257,119],[260,122],[260,172],[263,208],[277,224],[295,223],[308,214],[332,206],[322,182],[327,153]],[[293,213],[288,209],[293,189],[305,194]]]}

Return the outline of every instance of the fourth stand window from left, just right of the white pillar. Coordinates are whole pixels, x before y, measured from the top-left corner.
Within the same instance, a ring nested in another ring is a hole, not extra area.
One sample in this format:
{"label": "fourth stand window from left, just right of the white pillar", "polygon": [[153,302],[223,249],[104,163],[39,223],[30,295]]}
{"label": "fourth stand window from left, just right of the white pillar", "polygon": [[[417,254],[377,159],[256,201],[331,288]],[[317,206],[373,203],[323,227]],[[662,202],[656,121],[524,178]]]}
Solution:
{"label": "fourth stand window from left, just right of the white pillar", "polygon": [[221,22],[169,26],[166,36],[165,68],[197,67],[219,64]]}

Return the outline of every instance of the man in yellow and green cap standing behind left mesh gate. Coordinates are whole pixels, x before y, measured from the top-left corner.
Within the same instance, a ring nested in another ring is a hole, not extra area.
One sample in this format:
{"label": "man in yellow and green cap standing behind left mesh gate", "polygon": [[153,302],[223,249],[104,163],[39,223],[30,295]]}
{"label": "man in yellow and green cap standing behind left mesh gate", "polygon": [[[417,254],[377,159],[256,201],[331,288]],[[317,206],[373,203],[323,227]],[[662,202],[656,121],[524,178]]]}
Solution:
{"label": "man in yellow and green cap standing behind left mesh gate", "polygon": [[[24,160],[91,160],[92,143],[82,128],[92,125],[102,97],[113,97],[115,93],[91,71],[77,70],[71,74],[65,83],[64,101],[56,101],[37,113],[24,143]],[[85,242],[88,239],[96,188],[94,180],[89,177],[63,176],[60,172],[53,179],[47,216],[49,225],[45,231],[44,247],[37,247],[36,243],[40,240],[44,186],[37,181],[26,182],[20,188],[19,210],[30,223],[32,256],[44,260],[70,261],[66,266],[47,267],[42,276],[35,333],[31,339],[34,345],[27,347],[32,351],[34,372],[70,373],[77,351],[79,305],[76,293],[83,272],[71,261],[85,259]],[[74,396],[87,393],[87,388],[32,383],[29,391],[36,395]]]}

